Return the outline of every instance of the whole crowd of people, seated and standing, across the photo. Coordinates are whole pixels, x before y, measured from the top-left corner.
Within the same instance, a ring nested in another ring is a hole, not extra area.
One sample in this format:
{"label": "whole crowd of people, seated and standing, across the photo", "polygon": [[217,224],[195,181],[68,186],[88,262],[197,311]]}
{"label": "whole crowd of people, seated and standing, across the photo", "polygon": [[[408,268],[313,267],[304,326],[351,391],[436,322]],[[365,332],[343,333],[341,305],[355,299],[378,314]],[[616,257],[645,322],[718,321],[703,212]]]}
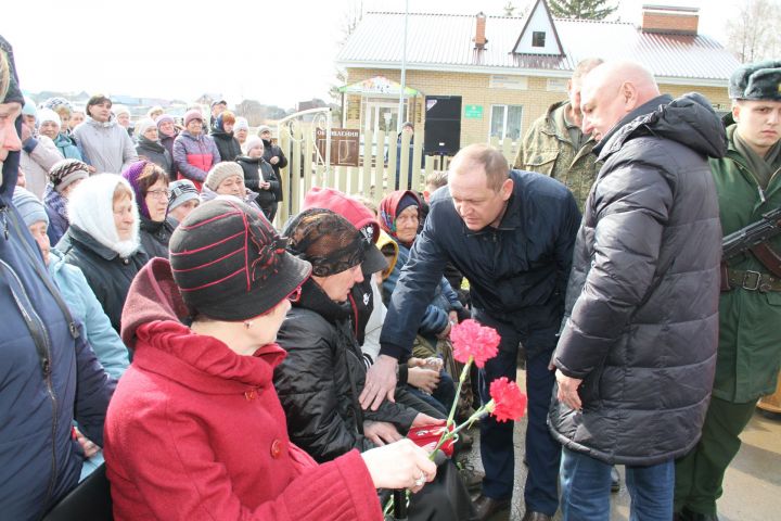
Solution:
{"label": "whole crowd of people, seated and standing, across the photo", "polygon": [[[116,519],[383,519],[382,490],[410,519],[491,519],[512,421],[481,420],[484,474],[406,434],[488,403],[522,350],[524,521],[607,520],[616,465],[632,519],[718,519],[781,364],[778,266],[721,258],[781,201],[780,86],[781,62],[742,66],[720,120],[586,60],[514,168],[471,144],[423,193],[313,188],[277,229],[269,127],[222,100],[133,131],[102,94],[36,106],[0,38],[3,516],[102,468]],[[468,317],[501,338],[474,404],[444,363]]]}

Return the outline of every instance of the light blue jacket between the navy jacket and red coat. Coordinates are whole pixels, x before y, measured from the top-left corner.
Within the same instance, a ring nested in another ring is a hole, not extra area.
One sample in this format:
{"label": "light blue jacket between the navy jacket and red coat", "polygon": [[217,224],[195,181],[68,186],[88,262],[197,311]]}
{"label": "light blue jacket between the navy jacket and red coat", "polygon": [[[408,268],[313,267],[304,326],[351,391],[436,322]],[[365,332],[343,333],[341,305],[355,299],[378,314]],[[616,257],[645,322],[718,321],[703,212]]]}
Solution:
{"label": "light blue jacket between the navy jacket and red coat", "polygon": [[49,274],[60,288],[73,317],[84,323],[85,335],[98,355],[98,361],[108,374],[118,380],[130,364],[128,351],[112,328],[111,320],[84,274],[76,266],[67,264],[63,254],[54,249],[49,253]]}

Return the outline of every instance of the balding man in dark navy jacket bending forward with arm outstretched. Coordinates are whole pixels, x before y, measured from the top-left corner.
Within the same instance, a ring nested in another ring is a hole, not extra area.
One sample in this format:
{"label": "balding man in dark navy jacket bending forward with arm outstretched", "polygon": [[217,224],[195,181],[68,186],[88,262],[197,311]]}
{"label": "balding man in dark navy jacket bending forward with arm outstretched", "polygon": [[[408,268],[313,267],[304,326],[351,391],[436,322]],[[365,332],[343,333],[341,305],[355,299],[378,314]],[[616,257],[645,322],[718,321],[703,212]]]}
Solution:
{"label": "balding man in dark navy jacket bending forward with arm outstretched", "polygon": [[[560,446],[546,427],[553,389],[548,363],[564,310],[564,290],[580,223],[575,198],[541,174],[510,170],[501,152],[472,144],[453,158],[448,186],[437,190],[423,231],[390,297],[377,360],[361,405],[393,399],[398,360],[409,357],[425,306],[448,260],[470,281],[474,318],[497,329],[499,354],[481,369],[481,398],[500,377],[515,379],[518,344],[526,352],[529,397],[524,520],[551,519],[558,508]],[[513,491],[513,423],[481,424],[486,476],[478,519],[507,510]]]}

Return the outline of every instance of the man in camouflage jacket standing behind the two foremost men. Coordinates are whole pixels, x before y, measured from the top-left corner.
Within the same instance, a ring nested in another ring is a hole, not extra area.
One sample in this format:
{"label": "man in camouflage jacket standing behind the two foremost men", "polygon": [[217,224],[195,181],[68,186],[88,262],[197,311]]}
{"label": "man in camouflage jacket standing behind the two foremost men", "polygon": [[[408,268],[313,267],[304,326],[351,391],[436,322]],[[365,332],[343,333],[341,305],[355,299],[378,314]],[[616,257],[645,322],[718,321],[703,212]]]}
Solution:
{"label": "man in camouflage jacket standing behind the two foremost men", "polygon": [[577,64],[567,81],[569,99],[552,104],[532,125],[513,162],[513,168],[559,179],[573,192],[580,212],[599,171],[591,153],[596,142],[580,131],[580,82],[600,63],[600,59],[587,59]]}

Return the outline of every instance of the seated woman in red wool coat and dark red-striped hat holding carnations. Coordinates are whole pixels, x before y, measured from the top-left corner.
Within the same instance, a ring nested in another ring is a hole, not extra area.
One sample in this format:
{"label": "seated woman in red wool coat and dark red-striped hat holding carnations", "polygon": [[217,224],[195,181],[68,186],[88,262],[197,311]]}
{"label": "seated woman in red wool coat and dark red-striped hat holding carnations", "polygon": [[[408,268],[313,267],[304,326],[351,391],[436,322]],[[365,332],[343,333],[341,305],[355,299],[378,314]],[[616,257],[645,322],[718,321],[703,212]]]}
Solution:
{"label": "seated woman in red wool coat and dark red-striped hat holding carnations", "polygon": [[276,335],[310,270],[226,199],[184,219],[170,262],[139,272],[123,315],[135,357],[105,427],[115,519],[381,520],[375,487],[434,478],[409,441],[323,465],[290,442]]}

